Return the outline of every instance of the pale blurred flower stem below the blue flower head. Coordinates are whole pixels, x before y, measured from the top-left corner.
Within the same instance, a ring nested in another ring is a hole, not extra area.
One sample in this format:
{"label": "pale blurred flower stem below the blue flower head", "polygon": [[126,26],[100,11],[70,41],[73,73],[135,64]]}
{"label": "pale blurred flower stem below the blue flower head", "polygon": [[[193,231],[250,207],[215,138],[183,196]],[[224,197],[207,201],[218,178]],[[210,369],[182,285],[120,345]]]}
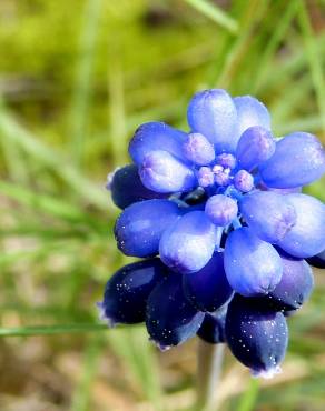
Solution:
{"label": "pale blurred flower stem below the blue flower head", "polygon": [[196,410],[216,411],[214,407],[221,374],[225,344],[209,344],[199,339],[197,350]]}

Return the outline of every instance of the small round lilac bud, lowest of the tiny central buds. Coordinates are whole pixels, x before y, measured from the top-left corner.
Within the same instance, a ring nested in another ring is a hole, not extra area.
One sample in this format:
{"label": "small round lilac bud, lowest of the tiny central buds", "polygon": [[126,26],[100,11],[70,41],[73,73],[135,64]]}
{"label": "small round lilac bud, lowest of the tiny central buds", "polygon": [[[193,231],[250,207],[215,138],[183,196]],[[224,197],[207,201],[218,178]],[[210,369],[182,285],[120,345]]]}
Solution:
{"label": "small round lilac bud, lowest of the tiny central buds", "polygon": [[214,224],[226,227],[237,217],[238,207],[230,197],[216,194],[208,199],[205,212]]}

